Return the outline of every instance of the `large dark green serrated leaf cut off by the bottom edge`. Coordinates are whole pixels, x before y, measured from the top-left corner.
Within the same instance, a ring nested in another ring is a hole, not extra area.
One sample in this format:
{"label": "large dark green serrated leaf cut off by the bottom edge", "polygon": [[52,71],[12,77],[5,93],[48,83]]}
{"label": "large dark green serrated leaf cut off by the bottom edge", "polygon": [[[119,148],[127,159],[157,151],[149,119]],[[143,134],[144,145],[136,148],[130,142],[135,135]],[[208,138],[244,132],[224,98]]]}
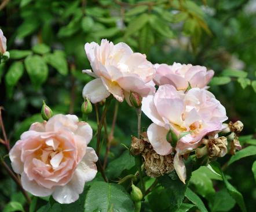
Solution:
{"label": "large dark green serrated leaf cut off by the bottom edge", "polygon": [[134,211],[130,195],[122,185],[94,182],[89,188],[85,199],[85,212],[101,211]]}

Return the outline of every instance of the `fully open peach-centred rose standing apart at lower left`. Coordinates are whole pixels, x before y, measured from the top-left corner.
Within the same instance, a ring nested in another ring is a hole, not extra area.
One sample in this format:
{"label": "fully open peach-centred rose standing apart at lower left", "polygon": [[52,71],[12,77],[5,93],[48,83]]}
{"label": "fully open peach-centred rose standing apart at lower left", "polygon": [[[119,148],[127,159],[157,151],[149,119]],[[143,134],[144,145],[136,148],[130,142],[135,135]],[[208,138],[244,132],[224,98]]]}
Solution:
{"label": "fully open peach-centred rose standing apart at lower left", "polygon": [[74,115],[58,114],[32,124],[9,153],[23,188],[35,196],[53,195],[61,204],[75,202],[97,173],[98,157],[87,147],[92,133]]}

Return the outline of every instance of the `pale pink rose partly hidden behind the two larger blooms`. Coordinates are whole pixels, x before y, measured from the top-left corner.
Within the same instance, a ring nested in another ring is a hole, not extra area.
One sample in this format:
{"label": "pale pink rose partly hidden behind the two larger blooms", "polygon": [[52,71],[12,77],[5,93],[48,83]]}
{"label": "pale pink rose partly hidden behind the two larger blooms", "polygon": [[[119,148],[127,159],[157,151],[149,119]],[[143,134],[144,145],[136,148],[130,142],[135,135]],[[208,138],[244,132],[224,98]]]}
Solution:
{"label": "pale pink rose partly hidden behind the two larger blooms", "polygon": [[204,66],[185,65],[176,62],[173,65],[155,64],[155,68],[154,82],[157,85],[173,85],[177,90],[186,90],[188,83],[191,84],[192,88],[205,88],[214,75],[213,70],[207,71]]}

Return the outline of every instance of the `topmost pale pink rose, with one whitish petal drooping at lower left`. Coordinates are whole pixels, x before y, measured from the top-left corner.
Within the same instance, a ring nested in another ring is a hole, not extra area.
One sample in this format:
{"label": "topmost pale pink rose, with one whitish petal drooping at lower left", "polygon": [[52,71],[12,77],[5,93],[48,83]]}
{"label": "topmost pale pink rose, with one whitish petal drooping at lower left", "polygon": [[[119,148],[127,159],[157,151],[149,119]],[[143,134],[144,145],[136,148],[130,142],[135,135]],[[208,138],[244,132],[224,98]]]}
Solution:
{"label": "topmost pale pink rose, with one whitish petal drooping at lower left", "polygon": [[113,95],[119,102],[129,103],[130,91],[140,96],[155,92],[155,68],[145,54],[133,53],[126,43],[113,44],[106,39],[101,44],[86,43],[85,51],[92,70],[83,70],[96,79],[83,88],[83,97],[92,103]]}

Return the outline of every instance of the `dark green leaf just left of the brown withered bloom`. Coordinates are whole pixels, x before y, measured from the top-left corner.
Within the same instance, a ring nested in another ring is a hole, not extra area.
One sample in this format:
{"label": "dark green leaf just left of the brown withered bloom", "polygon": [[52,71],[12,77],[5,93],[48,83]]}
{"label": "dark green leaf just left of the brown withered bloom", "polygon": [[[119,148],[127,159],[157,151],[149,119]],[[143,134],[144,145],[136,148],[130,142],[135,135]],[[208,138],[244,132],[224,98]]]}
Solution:
{"label": "dark green leaf just left of the brown withered bloom", "polygon": [[133,168],[133,166],[135,166],[134,157],[126,150],[122,155],[108,164],[106,174],[108,178],[114,179],[120,177],[123,170],[129,170]]}

